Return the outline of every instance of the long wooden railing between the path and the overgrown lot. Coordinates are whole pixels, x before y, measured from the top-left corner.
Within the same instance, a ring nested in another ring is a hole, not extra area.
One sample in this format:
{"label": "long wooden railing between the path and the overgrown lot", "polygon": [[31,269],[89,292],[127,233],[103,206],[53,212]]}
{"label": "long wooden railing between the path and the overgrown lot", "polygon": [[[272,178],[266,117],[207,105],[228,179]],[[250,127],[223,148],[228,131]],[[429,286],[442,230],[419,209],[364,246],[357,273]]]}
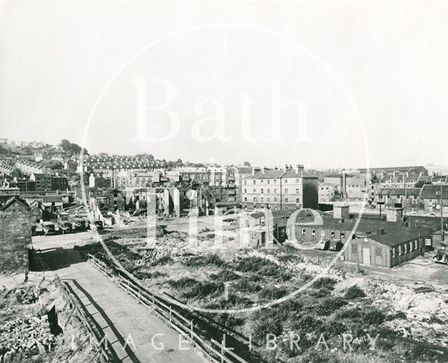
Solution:
{"label": "long wooden railing between the path and the overgrown lot", "polygon": [[195,332],[195,324],[193,320],[189,320],[181,313],[176,311],[176,306],[164,299],[160,294],[149,291],[137,279],[130,278],[129,273],[124,272],[122,268],[114,266],[110,268],[103,261],[97,259],[92,254],[86,254],[88,261],[98,268],[104,275],[113,279],[118,286],[124,289],[128,294],[134,296],[139,303],[150,308],[157,313],[162,320],[165,320],[170,327],[179,331],[180,334],[188,338],[196,348],[202,350],[211,362],[216,363],[248,363],[239,357],[231,348],[225,346],[225,336],[223,341],[218,342],[210,339],[209,342],[199,336]]}

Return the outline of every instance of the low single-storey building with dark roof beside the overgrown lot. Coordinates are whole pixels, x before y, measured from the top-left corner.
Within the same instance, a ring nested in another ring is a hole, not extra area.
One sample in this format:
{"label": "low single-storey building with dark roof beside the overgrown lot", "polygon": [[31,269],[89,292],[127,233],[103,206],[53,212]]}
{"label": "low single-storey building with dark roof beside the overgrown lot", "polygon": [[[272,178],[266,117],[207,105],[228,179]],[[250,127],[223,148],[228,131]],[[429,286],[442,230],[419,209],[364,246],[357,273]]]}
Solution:
{"label": "low single-storey building with dark roof beside the overgrown lot", "polygon": [[426,240],[440,228],[431,217],[404,217],[402,208],[386,210],[386,219],[349,214],[348,206],[335,207],[333,215],[318,212],[318,218],[302,210],[288,225],[288,238],[318,242],[341,240],[346,245],[344,259],[365,265],[393,267],[419,256]]}

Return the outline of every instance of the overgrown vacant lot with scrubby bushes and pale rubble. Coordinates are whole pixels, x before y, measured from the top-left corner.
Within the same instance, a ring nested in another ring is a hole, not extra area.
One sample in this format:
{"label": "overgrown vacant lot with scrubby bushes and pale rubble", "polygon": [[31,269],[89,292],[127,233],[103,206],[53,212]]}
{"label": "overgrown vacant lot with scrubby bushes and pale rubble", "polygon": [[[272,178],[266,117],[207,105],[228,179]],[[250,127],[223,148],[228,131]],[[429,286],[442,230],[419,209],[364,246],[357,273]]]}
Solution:
{"label": "overgrown vacant lot with scrubby bushes and pale rubble", "polygon": [[[174,232],[150,249],[144,233],[116,231],[106,237],[106,245],[153,291],[188,306],[223,310],[204,315],[251,337],[254,353],[266,362],[444,359],[437,347],[448,344],[446,289],[394,285],[335,269],[321,275],[323,266],[304,256],[236,249],[222,253],[213,249],[214,234],[208,228],[198,233],[197,246],[189,245],[186,233]],[[80,248],[109,259],[99,244]],[[228,309],[246,310],[226,313]]]}

